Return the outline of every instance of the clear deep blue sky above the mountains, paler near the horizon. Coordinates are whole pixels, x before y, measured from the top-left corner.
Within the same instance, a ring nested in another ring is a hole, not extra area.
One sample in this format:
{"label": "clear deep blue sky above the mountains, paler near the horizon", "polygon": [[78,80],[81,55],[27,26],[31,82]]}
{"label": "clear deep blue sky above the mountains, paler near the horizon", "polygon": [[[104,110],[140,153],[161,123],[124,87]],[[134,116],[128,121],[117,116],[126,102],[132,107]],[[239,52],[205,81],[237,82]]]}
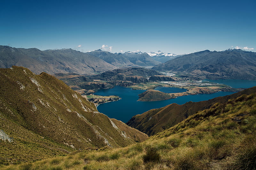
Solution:
{"label": "clear deep blue sky above the mountains, paler near the horizon", "polygon": [[235,47],[256,52],[255,7],[255,0],[2,1],[0,45],[83,52],[102,45],[112,52],[183,54]]}

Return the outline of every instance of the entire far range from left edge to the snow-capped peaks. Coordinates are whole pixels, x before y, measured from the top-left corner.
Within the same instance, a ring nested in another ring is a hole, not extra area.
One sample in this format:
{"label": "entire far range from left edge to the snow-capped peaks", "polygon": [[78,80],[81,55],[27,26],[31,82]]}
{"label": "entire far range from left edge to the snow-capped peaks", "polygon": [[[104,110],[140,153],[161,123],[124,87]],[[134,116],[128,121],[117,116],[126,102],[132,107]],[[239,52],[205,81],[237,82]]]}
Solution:
{"label": "entire far range from left edge to the snow-capped peaks", "polygon": [[102,50],[83,53],[73,49],[44,50],[0,46],[0,67],[22,66],[35,74],[104,72],[120,67],[160,64],[147,53],[110,53]]}

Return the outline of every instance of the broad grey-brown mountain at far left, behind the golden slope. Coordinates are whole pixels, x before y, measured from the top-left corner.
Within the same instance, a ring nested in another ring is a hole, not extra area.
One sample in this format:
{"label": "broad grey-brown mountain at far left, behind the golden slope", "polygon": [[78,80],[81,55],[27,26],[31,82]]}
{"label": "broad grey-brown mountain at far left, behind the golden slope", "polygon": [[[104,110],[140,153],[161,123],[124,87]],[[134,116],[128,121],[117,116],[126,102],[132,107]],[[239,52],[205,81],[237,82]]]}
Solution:
{"label": "broad grey-brown mountain at far left, behind the golden slope", "polygon": [[77,73],[101,72],[117,68],[98,57],[72,49],[45,50],[0,46],[0,67],[26,67],[35,74],[42,72]]}

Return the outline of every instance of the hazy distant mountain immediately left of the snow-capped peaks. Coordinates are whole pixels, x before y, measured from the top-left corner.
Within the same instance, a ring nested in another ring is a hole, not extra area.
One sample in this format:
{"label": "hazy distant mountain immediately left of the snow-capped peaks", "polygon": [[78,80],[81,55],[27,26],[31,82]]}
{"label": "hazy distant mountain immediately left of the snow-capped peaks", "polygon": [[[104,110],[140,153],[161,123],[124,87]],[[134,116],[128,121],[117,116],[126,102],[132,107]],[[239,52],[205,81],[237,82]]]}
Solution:
{"label": "hazy distant mountain immediately left of the snow-capped peaks", "polygon": [[128,60],[130,60],[133,64],[138,66],[155,66],[160,64],[161,62],[154,60],[152,57],[148,55],[148,53],[134,53],[134,52],[125,52],[124,55]]}

